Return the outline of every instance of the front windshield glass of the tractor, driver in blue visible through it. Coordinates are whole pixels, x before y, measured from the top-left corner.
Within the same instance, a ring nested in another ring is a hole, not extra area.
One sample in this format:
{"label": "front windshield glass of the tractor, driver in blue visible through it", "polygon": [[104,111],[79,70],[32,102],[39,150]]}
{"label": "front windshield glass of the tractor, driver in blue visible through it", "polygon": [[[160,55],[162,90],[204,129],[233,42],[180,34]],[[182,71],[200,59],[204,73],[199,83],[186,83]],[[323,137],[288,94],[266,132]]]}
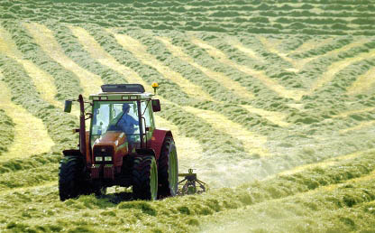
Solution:
{"label": "front windshield glass of the tractor, driver in blue visible through it", "polygon": [[107,131],[122,131],[129,141],[139,142],[138,119],[136,101],[94,101],[91,144]]}

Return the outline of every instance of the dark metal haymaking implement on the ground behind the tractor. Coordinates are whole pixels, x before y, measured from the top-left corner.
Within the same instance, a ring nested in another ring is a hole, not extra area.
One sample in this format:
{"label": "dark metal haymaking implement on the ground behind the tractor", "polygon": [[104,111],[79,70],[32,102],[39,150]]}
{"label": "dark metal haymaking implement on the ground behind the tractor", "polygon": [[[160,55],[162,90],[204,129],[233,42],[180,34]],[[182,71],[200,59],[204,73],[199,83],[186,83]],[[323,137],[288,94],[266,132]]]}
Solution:
{"label": "dark metal haymaking implement on the ground behind the tractor", "polygon": [[197,173],[193,173],[193,169],[189,169],[188,173],[179,173],[178,176],[184,177],[182,181],[178,182],[178,185],[182,186],[178,189],[178,195],[202,193],[208,190],[206,182],[199,181]]}

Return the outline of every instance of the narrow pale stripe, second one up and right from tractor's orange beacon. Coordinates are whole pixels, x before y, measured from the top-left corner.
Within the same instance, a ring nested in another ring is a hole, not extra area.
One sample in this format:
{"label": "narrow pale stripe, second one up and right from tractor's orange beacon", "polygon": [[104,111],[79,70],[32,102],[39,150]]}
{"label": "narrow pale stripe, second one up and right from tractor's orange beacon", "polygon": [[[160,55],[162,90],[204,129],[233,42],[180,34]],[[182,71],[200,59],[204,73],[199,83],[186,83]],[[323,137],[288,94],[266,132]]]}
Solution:
{"label": "narrow pale stripe, second one up and right from tractor's orange beacon", "polygon": [[177,57],[178,59],[182,61],[188,62],[193,67],[197,68],[198,70],[201,70],[204,74],[206,74],[207,77],[210,79],[216,80],[220,85],[222,85],[225,89],[232,90],[235,95],[242,97],[242,98],[248,98],[252,99],[254,98],[254,95],[246,88],[242,87],[238,82],[233,81],[232,79],[226,77],[223,73],[216,72],[214,70],[207,69],[201,65],[199,65],[197,62],[194,61],[193,58],[188,56],[182,48],[173,45],[170,42],[170,39],[167,37],[156,37],[156,39],[160,40],[160,42],[163,42],[167,49],[172,53],[173,56]]}

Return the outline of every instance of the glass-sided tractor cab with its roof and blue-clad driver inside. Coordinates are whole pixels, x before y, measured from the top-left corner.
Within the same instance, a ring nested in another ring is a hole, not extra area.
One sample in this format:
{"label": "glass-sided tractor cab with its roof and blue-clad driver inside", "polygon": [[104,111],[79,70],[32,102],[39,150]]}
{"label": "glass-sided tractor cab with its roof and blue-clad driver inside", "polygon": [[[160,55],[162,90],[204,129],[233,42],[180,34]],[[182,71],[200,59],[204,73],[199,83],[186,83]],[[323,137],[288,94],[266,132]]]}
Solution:
{"label": "glass-sided tractor cab with its roof and blue-clad driver inside", "polygon": [[139,84],[103,85],[101,93],[90,95],[93,107],[89,147],[95,148],[117,135],[124,138],[128,153],[149,148],[155,129],[153,112],[160,111],[159,99],[152,96]]}

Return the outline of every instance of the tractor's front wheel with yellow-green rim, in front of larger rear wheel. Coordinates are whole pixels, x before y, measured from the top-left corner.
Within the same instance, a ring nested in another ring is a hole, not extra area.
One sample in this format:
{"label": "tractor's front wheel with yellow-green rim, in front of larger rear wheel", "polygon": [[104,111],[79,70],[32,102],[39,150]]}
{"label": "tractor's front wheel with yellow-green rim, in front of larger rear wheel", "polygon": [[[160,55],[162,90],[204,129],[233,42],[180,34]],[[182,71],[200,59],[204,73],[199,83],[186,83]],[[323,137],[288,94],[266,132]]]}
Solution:
{"label": "tractor's front wheel with yellow-green rim, in front of larger rear wheel", "polygon": [[133,163],[133,198],[156,200],[158,194],[158,168],[155,158],[141,155]]}

